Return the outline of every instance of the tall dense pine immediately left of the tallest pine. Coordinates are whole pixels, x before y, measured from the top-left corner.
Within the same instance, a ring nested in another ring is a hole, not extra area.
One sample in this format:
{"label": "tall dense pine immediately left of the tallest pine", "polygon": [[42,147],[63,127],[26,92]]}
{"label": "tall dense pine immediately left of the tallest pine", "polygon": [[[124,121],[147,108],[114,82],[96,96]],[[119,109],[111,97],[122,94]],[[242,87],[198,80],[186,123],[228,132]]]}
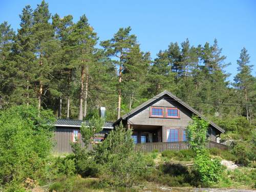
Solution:
{"label": "tall dense pine immediately left of the tallest pine", "polygon": [[13,46],[13,59],[15,60],[15,67],[18,81],[15,89],[15,99],[17,103],[29,103],[34,102],[34,90],[33,82],[35,78],[34,74],[34,61],[36,56],[35,52],[35,39],[32,34],[33,26],[33,10],[28,5],[26,6],[20,17],[20,29],[15,38]]}

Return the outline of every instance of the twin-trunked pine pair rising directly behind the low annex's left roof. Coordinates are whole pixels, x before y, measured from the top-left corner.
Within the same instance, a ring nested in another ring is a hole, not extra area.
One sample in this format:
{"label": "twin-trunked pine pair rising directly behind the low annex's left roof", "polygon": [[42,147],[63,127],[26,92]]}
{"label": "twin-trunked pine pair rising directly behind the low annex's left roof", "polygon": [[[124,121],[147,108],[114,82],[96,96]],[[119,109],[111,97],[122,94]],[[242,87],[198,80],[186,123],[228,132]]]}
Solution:
{"label": "twin-trunked pine pair rising directly behind the low annex's left roof", "polygon": [[71,38],[73,30],[73,17],[72,15],[60,18],[55,14],[52,17],[53,27],[55,29],[55,38],[60,43],[58,52],[57,65],[53,69],[54,77],[60,96],[58,98],[58,117],[61,118],[62,114],[62,98],[67,98],[67,119],[70,118],[70,96],[71,84],[74,79],[75,66],[72,60],[74,53],[72,47],[75,45],[74,40]]}

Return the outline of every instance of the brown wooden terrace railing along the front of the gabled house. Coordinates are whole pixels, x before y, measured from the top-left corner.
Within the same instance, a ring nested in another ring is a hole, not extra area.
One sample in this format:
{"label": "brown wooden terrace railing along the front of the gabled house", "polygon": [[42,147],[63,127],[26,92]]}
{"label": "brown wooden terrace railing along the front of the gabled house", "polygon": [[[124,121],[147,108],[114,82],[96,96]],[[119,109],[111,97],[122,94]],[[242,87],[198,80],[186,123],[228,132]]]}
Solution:
{"label": "brown wooden terrace railing along the front of the gabled house", "polygon": [[[220,148],[221,150],[227,150],[228,146],[220,144],[214,141],[208,141],[206,143],[207,148]],[[158,152],[163,152],[165,150],[187,150],[188,144],[186,142],[154,142],[154,143],[137,143],[135,145],[135,151],[139,152],[152,152],[157,150]]]}

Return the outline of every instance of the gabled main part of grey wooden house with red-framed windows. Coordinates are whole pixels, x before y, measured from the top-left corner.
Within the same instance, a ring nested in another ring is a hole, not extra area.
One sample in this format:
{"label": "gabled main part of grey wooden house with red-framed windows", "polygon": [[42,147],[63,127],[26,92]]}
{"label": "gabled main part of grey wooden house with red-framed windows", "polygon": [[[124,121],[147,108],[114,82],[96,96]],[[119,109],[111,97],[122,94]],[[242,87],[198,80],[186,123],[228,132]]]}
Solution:
{"label": "gabled main part of grey wooden house with red-framed windows", "polygon": [[123,115],[114,125],[122,122],[127,129],[132,128],[135,143],[182,142],[186,141],[186,127],[193,115],[209,122],[208,140],[217,142],[225,132],[167,90]]}

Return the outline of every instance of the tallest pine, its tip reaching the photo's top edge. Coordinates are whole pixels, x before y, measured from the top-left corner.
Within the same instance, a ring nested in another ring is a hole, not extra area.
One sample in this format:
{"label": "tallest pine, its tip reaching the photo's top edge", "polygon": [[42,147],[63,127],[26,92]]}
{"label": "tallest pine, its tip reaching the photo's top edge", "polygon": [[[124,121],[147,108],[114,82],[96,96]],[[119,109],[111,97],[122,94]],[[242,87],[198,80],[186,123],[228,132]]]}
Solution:
{"label": "tallest pine, its tip reaching the photo's top edge", "polygon": [[[40,5],[33,12],[33,36],[35,42],[35,55],[37,66],[36,73],[36,94],[38,100],[38,109],[41,108],[42,95],[45,95],[49,91],[49,74],[52,71],[51,57],[56,50],[53,26],[49,23],[51,14],[48,9],[48,4],[43,0]],[[44,90],[45,89],[45,90]],[[56,88],[50,87],[52,92]],[[43,92],[44,91],[44,92]]]}

